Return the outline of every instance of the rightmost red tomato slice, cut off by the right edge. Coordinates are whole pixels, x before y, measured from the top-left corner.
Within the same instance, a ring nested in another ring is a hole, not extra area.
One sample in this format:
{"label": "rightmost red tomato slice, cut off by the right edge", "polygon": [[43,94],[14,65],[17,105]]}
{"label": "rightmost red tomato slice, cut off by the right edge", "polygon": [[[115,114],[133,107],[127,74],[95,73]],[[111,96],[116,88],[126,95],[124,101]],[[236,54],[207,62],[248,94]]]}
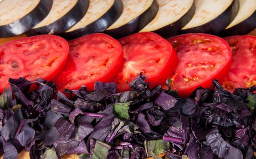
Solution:
{"label": "rightmost red tomato slice, cut off by the right edge", "polygon": [[233,91],[235,88],[249,88],[256,84],[256,37],[250,35],[224,38],[232,50],[232,64],[223,87]]}

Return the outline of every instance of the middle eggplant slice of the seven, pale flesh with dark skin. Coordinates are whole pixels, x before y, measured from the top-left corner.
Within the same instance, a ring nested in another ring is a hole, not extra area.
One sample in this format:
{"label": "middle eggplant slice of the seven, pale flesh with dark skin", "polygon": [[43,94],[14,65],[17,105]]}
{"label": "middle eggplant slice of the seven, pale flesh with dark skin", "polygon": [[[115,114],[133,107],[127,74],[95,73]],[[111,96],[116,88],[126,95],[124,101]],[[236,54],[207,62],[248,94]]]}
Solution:
{"label": "middle eggplant slice of the seven, pale flesh with dark skin", "polygon": [[122,0],[123,13],[104,33],[121,38],[138,32],[154,19],[158,11],[156,0]]}

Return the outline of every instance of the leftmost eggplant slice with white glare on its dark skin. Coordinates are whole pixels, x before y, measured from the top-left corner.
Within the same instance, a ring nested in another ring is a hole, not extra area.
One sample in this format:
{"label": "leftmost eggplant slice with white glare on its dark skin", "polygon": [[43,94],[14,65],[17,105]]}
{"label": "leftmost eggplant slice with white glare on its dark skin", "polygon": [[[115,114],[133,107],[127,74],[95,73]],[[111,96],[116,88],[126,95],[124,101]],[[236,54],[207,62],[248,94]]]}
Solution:
{"label": "leftmost eggplant slice with white glare on its dark skin", "polygon": [[0,38],[30,30],[48,15],[51,6],[52,0],[1,0]]}

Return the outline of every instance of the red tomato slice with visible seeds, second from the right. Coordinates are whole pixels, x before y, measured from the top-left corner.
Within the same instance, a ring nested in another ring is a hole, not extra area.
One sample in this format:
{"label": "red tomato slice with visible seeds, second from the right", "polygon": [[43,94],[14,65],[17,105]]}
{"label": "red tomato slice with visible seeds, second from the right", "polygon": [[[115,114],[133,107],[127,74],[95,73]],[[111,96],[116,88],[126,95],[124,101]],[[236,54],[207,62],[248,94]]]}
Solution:
{"label": "red tomato slice with visible seeds, second from the right", "polygon": [[172,89],[189,96],[197,87],[212,88],[212,80],[223,80],[230,70],[231,50],[220,37],[184,34],[168,41],[174,46],[179,64],[172,76]]}

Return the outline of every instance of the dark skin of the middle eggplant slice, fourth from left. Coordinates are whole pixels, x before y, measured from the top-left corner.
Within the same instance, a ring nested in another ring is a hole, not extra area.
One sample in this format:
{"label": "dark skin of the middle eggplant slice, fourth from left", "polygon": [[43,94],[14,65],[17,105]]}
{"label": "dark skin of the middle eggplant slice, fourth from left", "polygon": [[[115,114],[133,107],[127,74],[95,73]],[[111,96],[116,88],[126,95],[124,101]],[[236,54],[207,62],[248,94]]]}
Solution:
{"label": "dark skin of the middle eggplant slice, fourth from left", "polygon": [[105,30],[104,33],[116,39],[131,35],[133,33],[137,33],[142,30],[146,25],[148,25],[151,20],[154,19],[154,17],[157,15],[158,9],[158,3],[156,0],[154,0],[152,5],[135,19],[118,28]]}

